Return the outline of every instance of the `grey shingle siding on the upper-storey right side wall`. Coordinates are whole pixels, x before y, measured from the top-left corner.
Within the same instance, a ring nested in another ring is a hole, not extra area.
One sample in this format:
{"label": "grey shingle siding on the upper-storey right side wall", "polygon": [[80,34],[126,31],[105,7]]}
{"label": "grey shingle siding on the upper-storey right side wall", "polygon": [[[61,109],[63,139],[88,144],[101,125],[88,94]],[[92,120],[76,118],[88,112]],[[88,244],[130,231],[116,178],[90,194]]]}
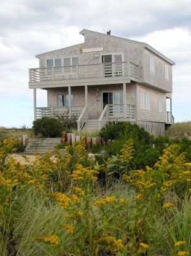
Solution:
{"label": "grey shingle siding on the upper-storey right side wall", "polygon": [[[155,71],[150,71],[150,54],[154,55]],[[144,50],[144,82],[149,85],[156,86],[160,89],[172,92],[172,65],[158,57],[156,54]],[[165,64],[168,65],[169,78],[165,78]]]}

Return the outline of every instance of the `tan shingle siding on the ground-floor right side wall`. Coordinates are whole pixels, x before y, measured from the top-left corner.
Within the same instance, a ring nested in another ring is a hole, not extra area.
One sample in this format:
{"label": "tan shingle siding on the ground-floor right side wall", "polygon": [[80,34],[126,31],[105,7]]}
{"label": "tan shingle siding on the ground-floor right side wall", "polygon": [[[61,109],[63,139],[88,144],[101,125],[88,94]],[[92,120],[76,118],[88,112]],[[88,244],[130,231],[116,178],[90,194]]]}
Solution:
{"label": "tan shingle siding on the ground-floor right side wall", "polygon": [[[140,91],[149,93],[150,95],[150,109],[141,109]],[[150,122],[166,122],[166,94],[155,89],[147,88],[143,85],[138,85],[137,91],[138,101],[138,120]],[[158,97],[162,97],[162,112],[159,112]]]}

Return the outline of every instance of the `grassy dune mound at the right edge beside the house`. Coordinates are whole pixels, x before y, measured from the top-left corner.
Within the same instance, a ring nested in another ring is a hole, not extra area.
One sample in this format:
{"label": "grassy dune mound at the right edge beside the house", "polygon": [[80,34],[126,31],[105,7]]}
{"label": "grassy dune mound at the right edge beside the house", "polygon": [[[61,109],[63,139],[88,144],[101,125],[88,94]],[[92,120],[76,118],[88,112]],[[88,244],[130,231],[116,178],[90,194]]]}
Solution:
{"label": "grassy dune mound at the right edge beside the house", "polygon": [[183,136],[191,139],[191,121],[174,123],[168,130],[166,136],[172,139],[181,139]]}

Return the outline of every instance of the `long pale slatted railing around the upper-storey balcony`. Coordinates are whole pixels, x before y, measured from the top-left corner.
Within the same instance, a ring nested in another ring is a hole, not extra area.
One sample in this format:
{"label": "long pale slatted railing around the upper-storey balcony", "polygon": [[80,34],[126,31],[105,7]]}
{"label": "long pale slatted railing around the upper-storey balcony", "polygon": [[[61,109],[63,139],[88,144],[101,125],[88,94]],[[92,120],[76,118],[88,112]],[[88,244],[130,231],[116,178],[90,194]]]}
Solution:
{"label": "long pale slatted railing around the upper-storey balcony", "polygon": [[29,82],[103,78],[109,76],[131,76],[139,79],[139,66],[132,62],[75,65],[67,67],[31,68]]}

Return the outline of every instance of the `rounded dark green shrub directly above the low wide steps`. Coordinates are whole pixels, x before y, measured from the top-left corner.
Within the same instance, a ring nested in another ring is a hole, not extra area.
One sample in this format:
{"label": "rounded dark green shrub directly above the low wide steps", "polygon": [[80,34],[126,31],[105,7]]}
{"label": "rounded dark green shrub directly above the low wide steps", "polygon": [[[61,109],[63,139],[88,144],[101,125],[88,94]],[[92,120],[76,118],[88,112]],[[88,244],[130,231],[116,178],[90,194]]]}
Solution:
{"label": "rounded dark green shrub directly above the low wide steps", "polygon": [[50,117],[42,117],[33,121],[34,134],[42,134],[44,138],[61,137],[63,131],[63,124],[60,120]]}

